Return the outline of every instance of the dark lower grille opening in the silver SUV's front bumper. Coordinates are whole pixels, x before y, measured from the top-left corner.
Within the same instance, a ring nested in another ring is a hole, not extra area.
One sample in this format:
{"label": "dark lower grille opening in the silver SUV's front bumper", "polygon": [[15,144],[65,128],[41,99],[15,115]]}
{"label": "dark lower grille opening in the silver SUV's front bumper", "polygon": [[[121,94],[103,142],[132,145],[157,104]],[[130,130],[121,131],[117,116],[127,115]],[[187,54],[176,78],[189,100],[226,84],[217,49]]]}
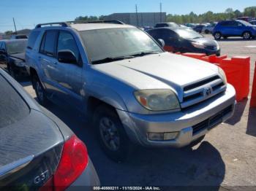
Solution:
{"label": "dark lower grille opening in the silver SUV's front bumper", "polygon": [[204,130],[206,128],[211,129],[222,123],[223,117],[225,115],[230,114],[233,111],[233,105],[227,106],[225,109],[223,109],[221,112],[214,114],[214,116],[208,118],[207,120],[204,120],[203,122],[197,123],[197,125],[192,126],[193,128],[193,136],[200,132],[201,130]]}

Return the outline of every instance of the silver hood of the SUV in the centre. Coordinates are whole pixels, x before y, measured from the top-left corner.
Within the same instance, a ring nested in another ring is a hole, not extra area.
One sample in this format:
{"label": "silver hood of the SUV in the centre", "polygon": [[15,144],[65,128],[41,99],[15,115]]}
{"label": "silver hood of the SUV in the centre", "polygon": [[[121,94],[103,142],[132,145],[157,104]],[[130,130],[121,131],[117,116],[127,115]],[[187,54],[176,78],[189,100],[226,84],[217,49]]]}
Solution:
{"label": "silver hood of the SUV in the centre", "polygon": [[185,85],[218,74],[217,66],[211,63],[170,52],[102,63],[93,68],[135,89],[172,87],[177,92]]}

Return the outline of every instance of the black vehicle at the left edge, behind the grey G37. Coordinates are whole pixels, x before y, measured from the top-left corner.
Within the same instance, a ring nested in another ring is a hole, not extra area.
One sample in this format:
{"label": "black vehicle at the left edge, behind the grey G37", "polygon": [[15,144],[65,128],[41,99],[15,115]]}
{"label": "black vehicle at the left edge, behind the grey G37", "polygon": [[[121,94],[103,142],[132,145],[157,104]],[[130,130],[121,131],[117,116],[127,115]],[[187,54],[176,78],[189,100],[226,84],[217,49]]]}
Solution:
{"label": "black vehicle at the left edge, behind the grey G37", "polygon": [[27,39],[1,40],[0,63],[7,65],[12,77],[27,75],[25,67],[25,50]]}

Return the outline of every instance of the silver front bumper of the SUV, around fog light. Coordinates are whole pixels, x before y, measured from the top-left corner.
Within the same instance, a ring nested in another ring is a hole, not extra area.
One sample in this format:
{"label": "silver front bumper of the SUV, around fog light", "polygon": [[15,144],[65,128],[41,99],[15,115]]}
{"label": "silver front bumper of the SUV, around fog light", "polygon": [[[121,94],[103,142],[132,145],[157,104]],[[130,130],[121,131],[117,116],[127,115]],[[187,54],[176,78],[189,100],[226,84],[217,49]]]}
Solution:
{"label": "silver front bumper of the SUV, around fog light", "polygon": [[[145,147],[184,147],[208,133],[219,123],[232,117],[235,104],[236,91],[232,85],[227,85],[225,93],[190,106],[189,109],[181,110],[181,112],[148,115],[133,114],[121,110],[117,110],[117,112],[129,138],[133,142]],[[200,128],[195,133],[197,125],[207,122],[207,120],[214,118],[227,108],[230,110],[225,114],[223,113],[216,123],[208,125],[206,128]],[[151,141],[148,139],[148,133],[171,132],[178,132],[176,139],[167,141]]]}

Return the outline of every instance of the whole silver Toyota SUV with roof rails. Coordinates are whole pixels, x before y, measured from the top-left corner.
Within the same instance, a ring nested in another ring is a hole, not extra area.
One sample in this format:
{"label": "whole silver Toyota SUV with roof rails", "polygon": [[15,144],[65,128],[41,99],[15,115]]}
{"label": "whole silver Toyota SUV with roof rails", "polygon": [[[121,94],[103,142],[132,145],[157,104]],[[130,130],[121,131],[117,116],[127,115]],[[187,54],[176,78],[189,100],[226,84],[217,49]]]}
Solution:
{"label": "whole silver Toyota SUV with roof rails", "polygon": [[38,101],[86,114],[113,160],[134,144],[193,144],[233,115],[236,93],[219,67],[165,52],[133,26],[54,24],[31,31],[26,50]]}

